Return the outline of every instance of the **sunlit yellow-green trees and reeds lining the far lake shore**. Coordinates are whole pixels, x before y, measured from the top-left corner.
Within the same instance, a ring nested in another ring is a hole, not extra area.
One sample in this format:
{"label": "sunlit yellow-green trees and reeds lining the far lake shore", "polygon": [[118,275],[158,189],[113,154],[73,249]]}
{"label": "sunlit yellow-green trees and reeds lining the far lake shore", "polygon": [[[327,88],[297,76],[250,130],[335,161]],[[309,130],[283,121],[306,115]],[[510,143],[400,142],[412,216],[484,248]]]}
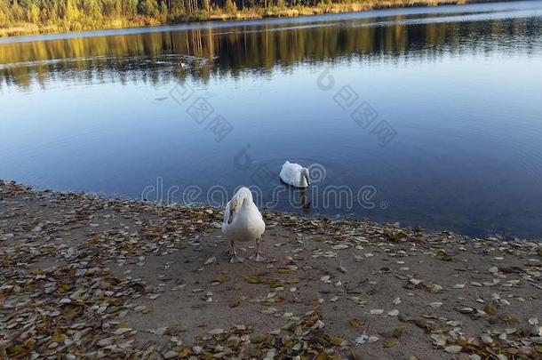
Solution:
{"label": "sunlit yellow-green trees and reeds lining the far lake shore", "polygon": [[490,3],[491,0],[0,0],[0,37],[192,21],[253,20],[407,6]]}

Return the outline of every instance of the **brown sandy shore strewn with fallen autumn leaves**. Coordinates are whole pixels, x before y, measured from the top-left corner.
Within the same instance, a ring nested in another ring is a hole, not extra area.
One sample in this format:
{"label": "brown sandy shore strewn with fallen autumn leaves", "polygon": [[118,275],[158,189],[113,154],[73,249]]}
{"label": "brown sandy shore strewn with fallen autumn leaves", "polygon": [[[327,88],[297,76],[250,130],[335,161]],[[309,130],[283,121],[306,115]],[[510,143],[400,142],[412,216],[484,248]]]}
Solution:
{"label": "brown sandy shore strewn with fallen autumn leaves", "polygon": [[264,217],[230,264],[218,209],[0,181],[0,357],[542,356],[539,240]]}

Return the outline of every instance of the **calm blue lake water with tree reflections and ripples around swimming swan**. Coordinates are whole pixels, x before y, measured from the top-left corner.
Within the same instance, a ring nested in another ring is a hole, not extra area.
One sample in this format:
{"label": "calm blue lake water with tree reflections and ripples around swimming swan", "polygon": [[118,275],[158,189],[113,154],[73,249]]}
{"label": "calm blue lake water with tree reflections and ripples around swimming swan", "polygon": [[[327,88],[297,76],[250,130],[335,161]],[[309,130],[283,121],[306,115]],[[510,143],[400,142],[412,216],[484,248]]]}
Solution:
{"label": "calm blue lake water with tree reflections and ripples around swimming swan", "polygon": [[0,179],[542,236],[542,2],[1,39]]}

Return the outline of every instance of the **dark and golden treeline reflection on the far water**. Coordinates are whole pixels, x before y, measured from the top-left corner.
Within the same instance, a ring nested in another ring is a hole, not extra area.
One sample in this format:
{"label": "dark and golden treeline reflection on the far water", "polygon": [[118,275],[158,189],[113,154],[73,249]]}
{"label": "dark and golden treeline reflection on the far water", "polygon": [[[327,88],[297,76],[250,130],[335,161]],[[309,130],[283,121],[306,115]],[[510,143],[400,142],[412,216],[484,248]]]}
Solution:
{"label": "dark and golden treeline reflection on the far water", "polygon": [[[394,17],[393,20],[401,20]],[[371,20],[149,32],[0,44],[0,86],[58,81],[161,84],[266,74],[299,63],[435,60],[445,54],[540,51],[538,19],[370,26]],[[184,65],[179,66],[182,63]]]}

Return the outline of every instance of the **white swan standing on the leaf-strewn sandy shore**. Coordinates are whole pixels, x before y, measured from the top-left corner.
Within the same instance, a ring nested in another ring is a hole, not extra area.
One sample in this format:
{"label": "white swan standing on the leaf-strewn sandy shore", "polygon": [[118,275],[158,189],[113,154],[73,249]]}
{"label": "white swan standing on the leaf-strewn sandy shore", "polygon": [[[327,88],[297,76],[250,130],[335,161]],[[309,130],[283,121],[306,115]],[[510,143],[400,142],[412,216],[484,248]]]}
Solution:
{"label": "white swan standing on the leaf-strewn sandy shore", "polygon": [[222,222],[222,232],[230,241],[233,257],[231,263],[243,262],[243,258],[235,252],[235,242],[256,242],[256,253],[251,260],[265,260],[259,253],[259,241],[266,230],[258,207],[252,201],[252,193],[249,188],[240,188],[234,197],[227,203]]}

